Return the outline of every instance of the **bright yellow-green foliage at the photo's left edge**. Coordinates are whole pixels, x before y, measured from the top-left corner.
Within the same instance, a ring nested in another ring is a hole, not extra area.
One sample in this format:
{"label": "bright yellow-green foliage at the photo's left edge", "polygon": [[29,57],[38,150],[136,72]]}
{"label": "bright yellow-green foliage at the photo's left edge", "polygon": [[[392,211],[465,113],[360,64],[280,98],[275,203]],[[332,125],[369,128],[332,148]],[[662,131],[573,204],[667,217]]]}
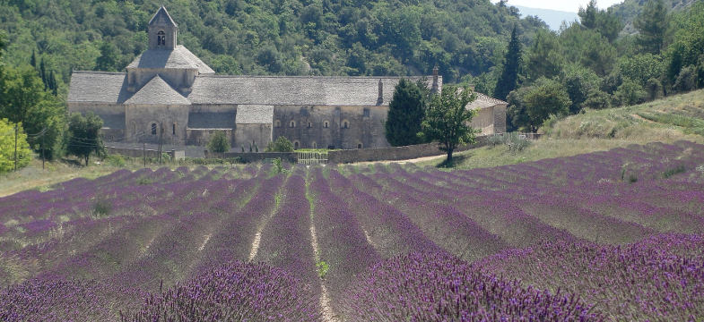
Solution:
{"label": "bright yellow-green foliage at the photo's left edge", "polygon": [[[0,173],[14,169],[14,126],[5,118],[0,118]],[[17,168],[30,164],[31,150],[22,123],[17,124]]]}

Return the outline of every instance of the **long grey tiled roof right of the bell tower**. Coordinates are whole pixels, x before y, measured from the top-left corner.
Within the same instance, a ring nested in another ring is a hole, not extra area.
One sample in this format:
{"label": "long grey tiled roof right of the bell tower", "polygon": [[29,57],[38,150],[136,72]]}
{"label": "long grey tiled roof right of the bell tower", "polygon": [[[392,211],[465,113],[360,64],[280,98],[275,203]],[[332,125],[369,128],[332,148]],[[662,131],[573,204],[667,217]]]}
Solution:
{"label": "long grey tiled roof right of the bell tower", "polygon": [[[387,106],[400,79],[204,75],[196,77],[188,99],[193,104],[376,106],[378,81],[381,80],[383,101],[380,106]],[[431,80],[429,86],[430,83]],[[439,83],[442,83],[441,78]]]}

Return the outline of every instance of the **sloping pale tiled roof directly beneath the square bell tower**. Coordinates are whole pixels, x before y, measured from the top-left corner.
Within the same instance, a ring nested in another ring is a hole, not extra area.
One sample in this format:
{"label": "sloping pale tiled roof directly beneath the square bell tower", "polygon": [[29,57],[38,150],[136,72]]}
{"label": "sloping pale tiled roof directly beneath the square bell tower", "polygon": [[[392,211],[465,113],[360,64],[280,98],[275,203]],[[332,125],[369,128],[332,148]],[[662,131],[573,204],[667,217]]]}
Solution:
{"label": "sloping pale tiled roof directly beneath the square bell tower", "polygon": [[214,73],[208,65],[183,45],[173,50],[147,49],[138,55],[126,68],[178,68],[196,69],[202,74]]}

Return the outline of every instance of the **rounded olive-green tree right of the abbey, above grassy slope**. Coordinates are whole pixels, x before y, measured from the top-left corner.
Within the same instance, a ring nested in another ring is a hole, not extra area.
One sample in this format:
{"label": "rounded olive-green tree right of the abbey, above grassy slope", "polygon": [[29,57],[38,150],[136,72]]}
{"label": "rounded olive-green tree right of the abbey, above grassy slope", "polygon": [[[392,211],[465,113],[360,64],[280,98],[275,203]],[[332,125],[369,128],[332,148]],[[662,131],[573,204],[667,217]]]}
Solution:
{"label": "rounded olive-green tree right of the abbey, above grassy slope", "polygon": [[530,130],[535,132],[550,115],[568,114],[572,101],[560,82],[542,78],[526,92],[524,104]]}

